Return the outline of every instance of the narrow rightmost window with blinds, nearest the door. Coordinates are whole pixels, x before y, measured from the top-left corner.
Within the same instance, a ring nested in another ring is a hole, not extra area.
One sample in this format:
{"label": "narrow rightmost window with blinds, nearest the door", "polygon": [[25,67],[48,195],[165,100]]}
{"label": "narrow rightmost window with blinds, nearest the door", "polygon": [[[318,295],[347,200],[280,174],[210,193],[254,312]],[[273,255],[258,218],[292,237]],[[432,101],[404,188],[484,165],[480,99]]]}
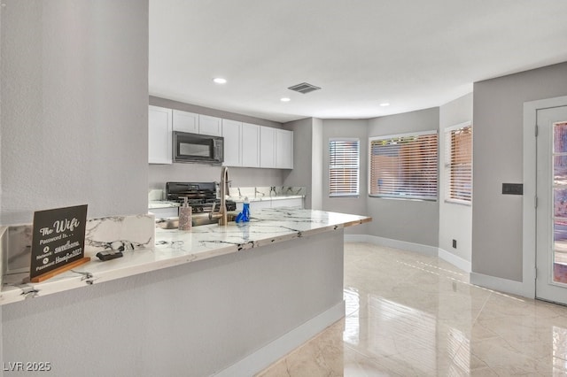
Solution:
{"label": "narrow rightmost window with blinds, nearest the door", "polygon": [[472,200],[472,127],[463,123],[445,130],[446,200],[469,204]]}

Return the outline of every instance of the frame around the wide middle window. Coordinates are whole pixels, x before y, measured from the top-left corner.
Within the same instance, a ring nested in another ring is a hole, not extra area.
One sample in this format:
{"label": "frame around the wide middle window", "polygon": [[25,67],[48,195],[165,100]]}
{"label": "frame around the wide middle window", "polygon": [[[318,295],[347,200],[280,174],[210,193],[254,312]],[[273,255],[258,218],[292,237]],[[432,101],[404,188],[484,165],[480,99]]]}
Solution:
{"label": "frame around the wide middle window", "polygon": [[[437,169],[437,178],[436,178],[436,189],[435,189],[435,197],[429,196],[402,196],[402,195],[388,195],[388,194],[372,194],[372,142],[377,140],[386,140],[392,141],[392,139],[403,138],[403,137],[417,137],[423,135],[435,135],[437,137],[437,162],[436,162],[436,169]],[[433,130],[425,130],[425,131],[416,131],[416,132],[408,132],[404,134],[395,134],[395,135],[380,135],[380,136],[371,136],[369,137],[369,144],[368,144],[368,157],[369,157],[369,166],[368,166],[368,192],[370,197],[377,197],[382,199],[397,199],[397,200],[414,200],[414,201],[425,201],[425,202],[438,202],[439,201],[439,131],[437,129]]]}

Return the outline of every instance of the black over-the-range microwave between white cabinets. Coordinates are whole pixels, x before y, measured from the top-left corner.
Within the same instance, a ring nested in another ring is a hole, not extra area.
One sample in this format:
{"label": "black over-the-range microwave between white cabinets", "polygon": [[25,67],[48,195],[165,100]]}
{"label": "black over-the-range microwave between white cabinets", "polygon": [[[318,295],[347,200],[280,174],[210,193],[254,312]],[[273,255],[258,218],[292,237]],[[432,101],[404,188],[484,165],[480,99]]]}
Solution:
{"label": "black over-the-range microwave between white cabinets", "polygon": [[220,165],[224,161],[224,138],[174,131],[174,161]]}

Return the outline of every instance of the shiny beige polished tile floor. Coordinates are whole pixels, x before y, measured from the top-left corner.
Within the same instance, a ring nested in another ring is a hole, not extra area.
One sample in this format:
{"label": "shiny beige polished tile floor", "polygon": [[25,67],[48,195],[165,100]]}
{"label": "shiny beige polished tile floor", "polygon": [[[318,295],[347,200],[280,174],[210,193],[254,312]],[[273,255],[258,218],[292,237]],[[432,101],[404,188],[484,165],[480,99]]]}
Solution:
{"label": "shiny beige polished tile floor", "polygon": [[567,307],[470,285],[439,258],[346,243],[345,300],[258,376],[567,375]]}

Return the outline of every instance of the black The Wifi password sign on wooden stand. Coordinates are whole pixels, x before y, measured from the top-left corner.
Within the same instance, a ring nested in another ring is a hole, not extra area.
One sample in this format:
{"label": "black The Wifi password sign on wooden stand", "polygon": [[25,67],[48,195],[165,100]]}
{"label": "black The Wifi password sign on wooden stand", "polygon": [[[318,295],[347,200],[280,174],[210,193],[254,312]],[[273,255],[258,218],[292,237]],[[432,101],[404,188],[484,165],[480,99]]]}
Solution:
{"label": "black The Wifi password sign on wooden stand", "polygon": [[34,212],[29,277],[39,282],[82,265],[87,204]]}

